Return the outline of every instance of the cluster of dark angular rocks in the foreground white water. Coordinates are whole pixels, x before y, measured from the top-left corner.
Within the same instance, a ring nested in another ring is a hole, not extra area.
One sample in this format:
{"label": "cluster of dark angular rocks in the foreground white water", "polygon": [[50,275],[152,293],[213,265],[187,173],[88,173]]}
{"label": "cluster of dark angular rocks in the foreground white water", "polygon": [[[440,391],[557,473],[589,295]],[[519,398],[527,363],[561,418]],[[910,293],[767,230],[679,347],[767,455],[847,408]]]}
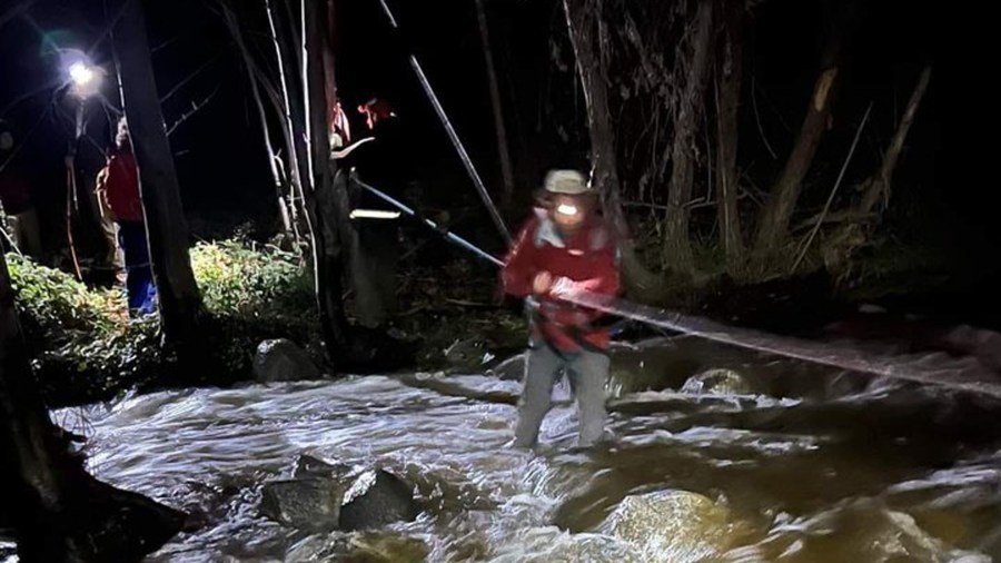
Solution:
{"label": "cluster of dark angular rocks in the foreground white water", "polygon": [[413,487],[371,467],[299,457],[295,478],[265,484],[261,513],[301,530],[375,530],[417,517]]}

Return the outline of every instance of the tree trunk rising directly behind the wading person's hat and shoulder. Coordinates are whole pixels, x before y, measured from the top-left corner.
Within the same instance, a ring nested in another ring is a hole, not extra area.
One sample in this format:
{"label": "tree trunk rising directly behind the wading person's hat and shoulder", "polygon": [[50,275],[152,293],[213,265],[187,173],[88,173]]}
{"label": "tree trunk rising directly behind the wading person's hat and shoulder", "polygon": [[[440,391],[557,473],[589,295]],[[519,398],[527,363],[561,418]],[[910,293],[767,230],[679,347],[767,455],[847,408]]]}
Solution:
{"label": "tree trunk rising directly behind the wading person's hat and shoulder", "polygon": [[621,181],[615,155],[612,113],[608,108],[607,58],[602,52],[602,0],[564,0],[571,42],[587,108],[591,137],[591,182],[602,198],[605,217],[616,230],[622,250],[622,274],[627,292],[636,298],[656,302],[663,297],[663,280],[651,273],[636,255],[621,201]]}

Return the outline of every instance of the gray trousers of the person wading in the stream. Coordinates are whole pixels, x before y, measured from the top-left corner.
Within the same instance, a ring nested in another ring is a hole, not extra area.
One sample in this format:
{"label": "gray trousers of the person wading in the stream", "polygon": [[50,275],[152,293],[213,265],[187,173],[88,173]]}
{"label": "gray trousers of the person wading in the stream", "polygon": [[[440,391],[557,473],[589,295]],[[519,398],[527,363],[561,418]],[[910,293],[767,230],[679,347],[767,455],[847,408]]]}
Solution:
{"label": "gray trousers of the person wading in the stream", "polygon": [[558,354],[542,343],[529,348],[525,363],[525,383],[518,402],[515,445],[535,446],[542,421],[552,406],[553,385],[564,371],[577,396],[577,413],[581,419],[579,445],[589,446],[601,439],[607,417],[605,379],[608,376],[608,356],[597,352]]}

